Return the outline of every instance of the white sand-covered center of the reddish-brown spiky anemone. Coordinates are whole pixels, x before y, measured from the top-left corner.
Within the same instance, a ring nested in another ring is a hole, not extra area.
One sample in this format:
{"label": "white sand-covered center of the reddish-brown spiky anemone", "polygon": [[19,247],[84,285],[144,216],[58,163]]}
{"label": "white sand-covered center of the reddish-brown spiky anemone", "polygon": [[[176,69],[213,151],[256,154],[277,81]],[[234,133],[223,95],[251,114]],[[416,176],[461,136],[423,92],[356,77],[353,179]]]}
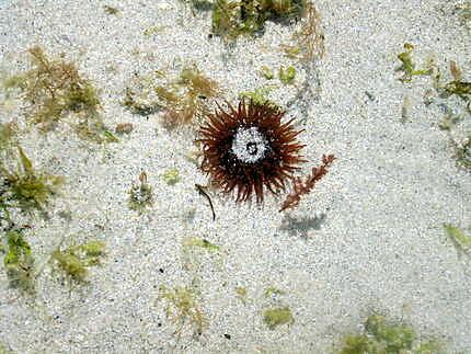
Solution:
{"label": "white sand-covered center of the reddish-brown spiky anemone", "polygon": [[245,163],[256,162],[265,156],[268,141],[256,127],[240,127],[232,140],[231,152]]}

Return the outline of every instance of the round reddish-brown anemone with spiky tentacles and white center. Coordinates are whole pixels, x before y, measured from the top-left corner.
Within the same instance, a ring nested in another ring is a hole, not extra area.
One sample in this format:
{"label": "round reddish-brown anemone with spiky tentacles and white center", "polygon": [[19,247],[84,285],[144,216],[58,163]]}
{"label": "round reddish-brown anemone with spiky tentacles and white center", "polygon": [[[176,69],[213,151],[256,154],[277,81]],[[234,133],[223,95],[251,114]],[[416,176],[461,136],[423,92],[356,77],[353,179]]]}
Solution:
{"label": "round reddish-brown anemone with spiky tentacles and white center", "polygon": [[296,137],[292,119],[282,123],[285,112],[269,102],[242,100],[236,110],[228,104],[207,116],[199,129],[204,160],[202,169],[225,193],[237,191],[237,201],[253,193],[263,202],[264,186],[276,194],[285,190],[297,164],[303,162],[303,145]]}

